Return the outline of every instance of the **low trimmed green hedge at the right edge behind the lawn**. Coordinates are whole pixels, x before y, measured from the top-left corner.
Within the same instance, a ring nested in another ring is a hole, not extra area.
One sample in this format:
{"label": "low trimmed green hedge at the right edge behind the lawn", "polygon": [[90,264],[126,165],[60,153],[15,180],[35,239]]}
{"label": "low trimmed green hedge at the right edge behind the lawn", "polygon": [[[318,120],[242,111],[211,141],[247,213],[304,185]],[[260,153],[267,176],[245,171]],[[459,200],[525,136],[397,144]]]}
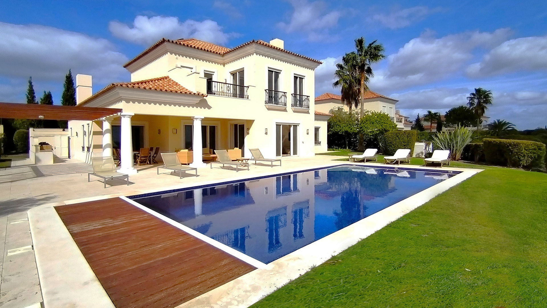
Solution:
{"label": "low trimmed green hedge at the right edge behind the lawn", "polygon": [[541,142],[513,139],[484,139],[482,142],[488,164],[545,168],[545,145]]}

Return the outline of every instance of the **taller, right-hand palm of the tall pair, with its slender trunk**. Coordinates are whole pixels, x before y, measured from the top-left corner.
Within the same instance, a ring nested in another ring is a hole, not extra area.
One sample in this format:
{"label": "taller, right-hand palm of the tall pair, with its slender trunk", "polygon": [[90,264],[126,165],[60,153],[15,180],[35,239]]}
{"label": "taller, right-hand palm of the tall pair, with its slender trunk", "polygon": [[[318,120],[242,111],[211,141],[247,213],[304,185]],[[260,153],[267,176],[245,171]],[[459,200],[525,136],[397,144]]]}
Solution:
{"label": "taller, right-hand palm of the tall pair, with its slender trunk", "polygon": [[[386,56],[383,55],[385,48],[383,48],[382,44],[373,41],[367,45],[364,37],[359,37],[355,40],[355,48],[357,50],[356,52],[348,53],[345,57],[347,62],[355,67],[359,75],[359,93],[361,104],[361,112],[359,117],[363,118],[365,113],[365,90],[368,90],[366,83],[369,82],[370,77],[374,76],[373,69],[370,65],[382,60],[383,58],[386,58]],[[359,149],[363,149],[363,134],[359,134]]]}

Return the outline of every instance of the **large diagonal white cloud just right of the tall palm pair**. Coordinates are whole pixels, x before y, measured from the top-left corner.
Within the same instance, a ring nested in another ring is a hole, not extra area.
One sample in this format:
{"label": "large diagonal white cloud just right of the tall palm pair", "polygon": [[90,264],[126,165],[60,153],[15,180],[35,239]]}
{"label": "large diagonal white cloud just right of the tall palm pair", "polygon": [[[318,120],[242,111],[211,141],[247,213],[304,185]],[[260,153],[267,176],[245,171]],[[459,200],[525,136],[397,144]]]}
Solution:
{"label": "large diagonal white cloud just right of the tall palm pair", "polygon": [[468,31],[433,37],[426,31],[387,57],[387,68],[375,71],[371,88],[393,91],[427,84],[461,71],[476,48],[493,48],[510,35],[508,28],[493,32]]}

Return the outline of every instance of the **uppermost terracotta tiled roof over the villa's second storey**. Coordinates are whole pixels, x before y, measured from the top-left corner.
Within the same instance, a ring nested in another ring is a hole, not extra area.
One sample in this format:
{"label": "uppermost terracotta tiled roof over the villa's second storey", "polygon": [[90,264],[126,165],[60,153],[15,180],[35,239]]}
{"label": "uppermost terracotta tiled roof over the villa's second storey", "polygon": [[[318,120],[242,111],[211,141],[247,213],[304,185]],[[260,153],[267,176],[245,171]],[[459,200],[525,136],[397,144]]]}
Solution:
{"label": "uppermost terracotta tiled roof over the villa's second storey", "polygon": [[129,66],[130,64],[132,64],[133,62],[137,61],[139,58],[141,58],[142,56],[146,55],[147,53],[151,52],[154,48],[158,47],[159,45],[163,44],[163,43],[173,43],[173,44],[178,44],[178,45],[183,45],[183,46],[186,46],[186,47],[191,47],[191,48],[195,48],[195,49],[200,49],[200,50],[204,50],[206,52],[210,52],[210,53],[214,53],[214,54],[219,54],[219,55],[226,55],[226,54],[229,54],[230,52],[233,52],[234,50],[237,50],[237,49],[240,49],[242,47],[245,47],[247,45],[251,45],[251,44],[260,44],[260,45],[264,45],[266,47],[270,47],[272,49],[276,49],[276,50],[280,50],[281,52],[284,52],[284,53],[288,53],[288,54],[292,54],[292,55],[295,55],[295,56],[299,56],[300,58],[304,58],[306,60],[310,60],[310,61],[313,61],[313,62],[316,62],[318,64],[321,64],[322,62],[321,61],[318,61],[318,60],[315,60],[315,59],[312,59],[312,58],[309,58],[307,56],[304,56],[304,55],[300,55],[300,54],[297,54],[297,53],[293,53],[293,52],[289,52],[288,50],[285,50],[285,49],[282,49],[282,48],[279,48],[279,47],[275,47],[274,45],[272,44],[269,44],[269,43],[266,43],[264,41],[261,41],[260,39],[259,40],[252,40],[252,41],[249,41],[247,43],[243,43],[237,47],[234,47],[234,48],[226,48],[226,47],[223,47],[223,46],[220,46],[220,45],[216,45],[216,44],[213,44],[213,43],[209,43],[209,42],[204,42],[204,41],[200,41],[199,39],[195,39],[195,38],[188,38],[188,39],[176,39],[176,40],[173,40],[173,39],[167,39],[167,38],[162,38],[160,39],[158,42],[156,42],[155,44],[153,44],[152,46],[150,46],[149,48],[147,48],[146,50],[144,50],[142,53],[138,54],[135,58],[131,59],[129,62],[127,62],[126,64],[124,64],[124,67],[127,67]]}

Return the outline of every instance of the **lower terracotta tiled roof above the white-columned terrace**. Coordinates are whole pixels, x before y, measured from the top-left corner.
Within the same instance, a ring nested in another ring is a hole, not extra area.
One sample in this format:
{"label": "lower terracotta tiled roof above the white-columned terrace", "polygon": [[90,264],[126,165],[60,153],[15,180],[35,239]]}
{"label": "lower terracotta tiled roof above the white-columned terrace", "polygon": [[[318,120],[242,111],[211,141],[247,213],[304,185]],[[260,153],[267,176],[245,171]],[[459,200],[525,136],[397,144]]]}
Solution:
{"label": "lower terracotta tiled roof above the white-columned terrace", "polygon": [[84,100],[82,104],[85,102],[88,102],[92,99],[97,98],[98,96],[102,95],[103,93],[106,93],[108,90],[113,89],[115,87],[124,87],[124,88],[132,88],[132,89],[143,89],[143,90],[154,90],[154,91],[161,91],[161,92],[171,92],[171,93],[179,93],[179,94],[190,94],[190,95],[198,95],[198,96],[207,96],[207,94],[202,94],[199,92],[192,92],[188,90],[187,88],[184,88],[181,84],[174,81],[168,76],[164,77],[158,77],[158,78],[152,78],[152,79],[146,79],[141,81],[133,81],[133,82],[117,82],[107,85],[104,89],[100,90],[99,92],[95,93],[94,95],[90,96],[88,99]]}

